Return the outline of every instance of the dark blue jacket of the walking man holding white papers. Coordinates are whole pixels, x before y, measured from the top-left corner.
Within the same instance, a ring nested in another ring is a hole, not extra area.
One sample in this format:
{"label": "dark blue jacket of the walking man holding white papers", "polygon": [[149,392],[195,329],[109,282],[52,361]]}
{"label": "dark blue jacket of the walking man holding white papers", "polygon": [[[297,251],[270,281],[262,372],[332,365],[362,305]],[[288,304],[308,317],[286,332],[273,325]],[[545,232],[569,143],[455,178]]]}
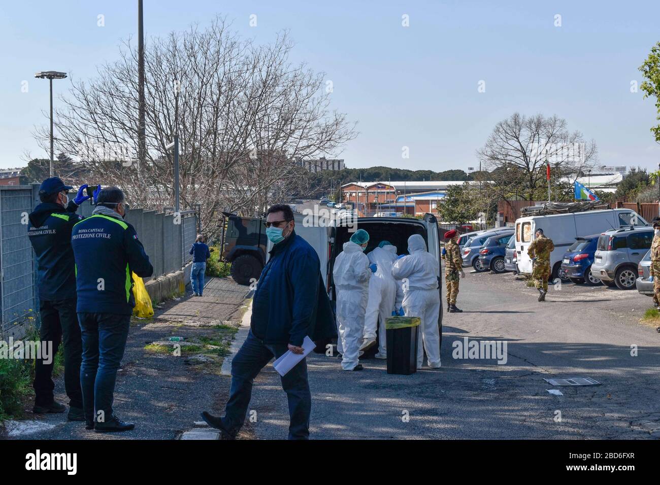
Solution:
{"label": "dark blue jacket of the walking man holding white papers", "polygon": [[293,232],[270,251],[252,301],[250,328],[268,344],[301,346],[306,335],[316,341],[337,336],[319,257]]}

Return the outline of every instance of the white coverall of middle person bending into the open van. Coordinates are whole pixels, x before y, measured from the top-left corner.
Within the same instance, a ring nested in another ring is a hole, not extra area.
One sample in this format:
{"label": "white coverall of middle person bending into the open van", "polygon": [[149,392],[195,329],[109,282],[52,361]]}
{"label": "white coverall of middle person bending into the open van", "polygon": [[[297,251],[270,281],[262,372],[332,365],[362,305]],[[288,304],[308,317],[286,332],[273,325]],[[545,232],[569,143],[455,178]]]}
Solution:
{"label": "white coverall of middle person bending into the open van", "polygon": [[385,355],[385,319],[391,317],[397,298],[397,284],[392,276],[392,265],[397,259],[397,247],[385,245],[376,247],[368,253],[370,263],[376,263],[378,269],[369,280],[369,302],[364,316],[364,339],[376,338],[376,325],[380,317],[378,334],[378,352]]}

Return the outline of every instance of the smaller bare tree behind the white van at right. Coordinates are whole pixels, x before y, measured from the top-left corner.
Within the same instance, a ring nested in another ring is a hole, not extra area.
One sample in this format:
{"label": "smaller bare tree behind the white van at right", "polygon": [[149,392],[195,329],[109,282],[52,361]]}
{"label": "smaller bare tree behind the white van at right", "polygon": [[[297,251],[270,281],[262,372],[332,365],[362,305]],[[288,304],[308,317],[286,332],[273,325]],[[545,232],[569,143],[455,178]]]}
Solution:
{"label": "smaller bare tree behind the white van at right", "polygon": [[579,131],[568,131],[566,120],[556,115],[513,113],[495,125],[477,156],[486,170],[496,171],[500,188],[532,201],[545,186],[546,163],[554,177],[574,182],[597,161],[597,148]]}

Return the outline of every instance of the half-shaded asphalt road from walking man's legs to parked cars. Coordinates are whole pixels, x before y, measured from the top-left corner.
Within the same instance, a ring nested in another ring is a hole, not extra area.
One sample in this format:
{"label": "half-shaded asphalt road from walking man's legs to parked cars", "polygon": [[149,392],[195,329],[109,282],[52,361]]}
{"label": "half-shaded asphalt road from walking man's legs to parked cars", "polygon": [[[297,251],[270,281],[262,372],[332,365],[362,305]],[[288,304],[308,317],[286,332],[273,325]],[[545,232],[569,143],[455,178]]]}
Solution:
{"label": "half-shaded asphalt road from walking man's legs to parked cars", "polygon": [[[342,372],[337,358],[312,354],[312,437],[660,437],[660,334],[640,323],[651,299],[574,284],[551,289],[545,303],[537,296],[511,274],[468,274],[464,313],[444,317],[440,370],[387,375],[384,362],[364,360],[363,372]],[[506,341],[506,364],[453,358],[453,342],[464,337]],[[576,376],[602,385],[543,380]],[[286,397],[271,366],[257,378],[250,408],[256,437],[286,437]]]}

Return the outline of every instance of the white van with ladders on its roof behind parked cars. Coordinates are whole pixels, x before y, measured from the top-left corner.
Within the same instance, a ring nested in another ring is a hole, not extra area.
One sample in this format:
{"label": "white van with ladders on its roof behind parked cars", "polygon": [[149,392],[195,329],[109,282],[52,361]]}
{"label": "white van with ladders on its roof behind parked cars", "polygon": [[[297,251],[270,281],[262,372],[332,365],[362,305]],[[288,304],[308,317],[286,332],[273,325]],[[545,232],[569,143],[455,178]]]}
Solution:
{"label": "white van with ladders on its roof behind parked cars", "polygon": [[578,236],[590,236],[621,226],[645,226],[647,222],[630,209],[587,210],[570,214],[551,214],[548,216],[527,216],[515,221],[515,251],[518,271],[532,272],[532,261],[527,255],[537,228],[554,243],[550,253],[551,279],[554,280],[562,264],[562,257],[568,247],[576,242]]}

